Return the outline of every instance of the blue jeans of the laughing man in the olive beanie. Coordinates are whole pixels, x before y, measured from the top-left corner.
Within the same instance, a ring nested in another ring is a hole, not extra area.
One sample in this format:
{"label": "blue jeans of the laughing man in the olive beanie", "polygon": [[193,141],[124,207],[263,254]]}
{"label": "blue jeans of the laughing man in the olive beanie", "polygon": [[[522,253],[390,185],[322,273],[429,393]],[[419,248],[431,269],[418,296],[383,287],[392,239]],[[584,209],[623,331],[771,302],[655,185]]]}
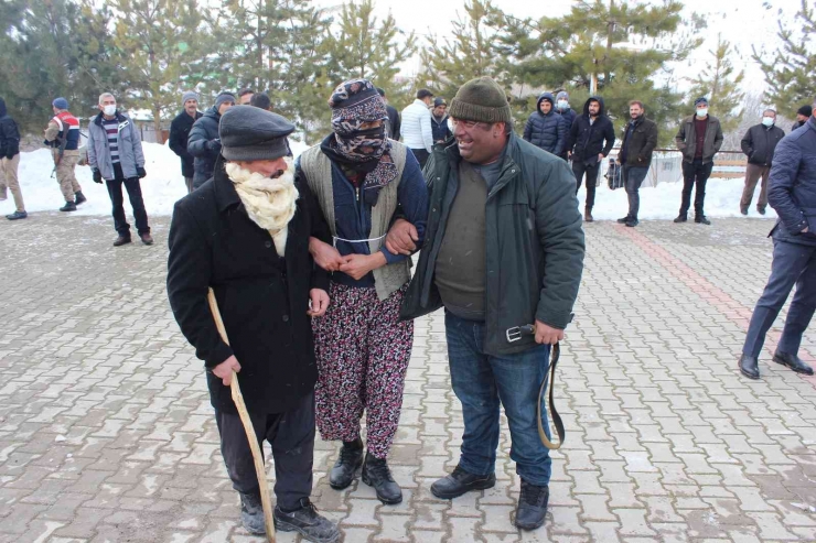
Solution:
{"label": "blue jeans of the laughing man in the olive beanie", "polygon": [[473,475],[495,471],[501,401],[509,425],[511,458],[516,463],[516,473],[529,484],[548,485],[552,460],[538,437],[536,405],[549,368],[549,345],[494,357],[482,350],[484,323],[445,312],[444,328],[451,383],[462,402],[464,419],[459,466]]}

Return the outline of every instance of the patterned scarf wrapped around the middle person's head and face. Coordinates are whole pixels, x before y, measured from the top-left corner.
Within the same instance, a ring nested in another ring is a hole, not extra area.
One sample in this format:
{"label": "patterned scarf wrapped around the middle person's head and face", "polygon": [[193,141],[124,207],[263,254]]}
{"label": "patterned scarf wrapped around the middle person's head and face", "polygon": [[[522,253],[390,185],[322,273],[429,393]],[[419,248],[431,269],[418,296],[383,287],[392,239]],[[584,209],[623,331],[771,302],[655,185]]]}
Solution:
{"label": "patterned scarf wrapped around the middle person's head and face", "polygon": [[[365,174],[366,203],[377,202],[379,189],[397,178],[390,156],[388,111],[377,88],[367,79],[352,79],[337,86],[329,99],[334,138],[328,148],[337,160]],[[365,122],[383,121],[377,128],[362,129]]]}

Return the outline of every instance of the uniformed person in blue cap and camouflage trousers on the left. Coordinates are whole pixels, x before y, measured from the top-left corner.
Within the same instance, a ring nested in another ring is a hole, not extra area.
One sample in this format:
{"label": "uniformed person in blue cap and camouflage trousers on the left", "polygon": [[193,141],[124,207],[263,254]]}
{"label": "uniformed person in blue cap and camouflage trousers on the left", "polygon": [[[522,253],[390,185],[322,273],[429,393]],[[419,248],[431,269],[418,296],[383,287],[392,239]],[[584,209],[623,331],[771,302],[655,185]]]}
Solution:
{"label": "uniformed person in blue cap and camouflage trousers on the left", "polygon": [[56,182],[65,198],[61,211],[76,211],[76,206],[87,198],[74,175],[76,163],[79,162],[79,121],[68,111],[68,100],[56,98],[52,102],[54,117],[45,128],[45,144],[51,148],[54,159]]}

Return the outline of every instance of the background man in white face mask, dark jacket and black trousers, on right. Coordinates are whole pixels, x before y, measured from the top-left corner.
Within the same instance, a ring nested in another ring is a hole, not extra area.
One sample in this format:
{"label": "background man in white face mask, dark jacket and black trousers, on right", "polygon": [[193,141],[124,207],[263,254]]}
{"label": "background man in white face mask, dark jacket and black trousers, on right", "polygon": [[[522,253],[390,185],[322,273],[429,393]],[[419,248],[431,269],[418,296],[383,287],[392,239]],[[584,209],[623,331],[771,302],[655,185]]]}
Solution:
{"label": "background man in white face mask, dark jacket and black trousers, on right", "polygon": [[717,117],[708,115],[708,99],[695,100],[695,115],[683,120],[675,135],[677,149],[683,153],[683,200],[680,214],[675,222],[688,220],[691,205],[691,191],[695,193],[695,222],[710,225],[704,206],[706,204],[706,182],[713,170],[713,156],[722,146],[722,128]]}

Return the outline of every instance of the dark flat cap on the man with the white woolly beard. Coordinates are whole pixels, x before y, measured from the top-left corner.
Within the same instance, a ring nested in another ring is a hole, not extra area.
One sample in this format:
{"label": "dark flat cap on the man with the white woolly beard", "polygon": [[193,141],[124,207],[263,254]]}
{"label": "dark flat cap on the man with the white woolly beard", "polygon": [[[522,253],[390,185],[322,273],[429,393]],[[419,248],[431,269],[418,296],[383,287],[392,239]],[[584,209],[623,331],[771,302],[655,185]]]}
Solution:
{"label": "dark flat cap on the man with the white woolly beard", "polygon": [[293,131],[294,124],[278,113],[251,107],[229,108],[218,123],[221,154],[228,161],[277,160],[290,153],[287,135]]}

